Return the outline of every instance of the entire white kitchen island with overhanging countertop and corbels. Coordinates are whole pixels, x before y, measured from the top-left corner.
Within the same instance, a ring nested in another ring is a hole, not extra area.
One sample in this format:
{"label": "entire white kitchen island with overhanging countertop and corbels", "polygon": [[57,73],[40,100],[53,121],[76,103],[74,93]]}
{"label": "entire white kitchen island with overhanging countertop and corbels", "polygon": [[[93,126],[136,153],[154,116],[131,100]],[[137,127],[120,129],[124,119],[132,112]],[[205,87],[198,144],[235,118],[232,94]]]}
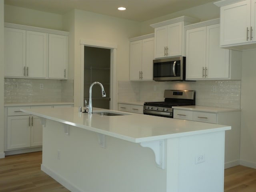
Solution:
{"label": "entire white kitchen island with overhanging countertop and corbels", "polygon": [[230,126],[97,108],[21,110],[41,118],[41,169],[72,192],[224,190]]}

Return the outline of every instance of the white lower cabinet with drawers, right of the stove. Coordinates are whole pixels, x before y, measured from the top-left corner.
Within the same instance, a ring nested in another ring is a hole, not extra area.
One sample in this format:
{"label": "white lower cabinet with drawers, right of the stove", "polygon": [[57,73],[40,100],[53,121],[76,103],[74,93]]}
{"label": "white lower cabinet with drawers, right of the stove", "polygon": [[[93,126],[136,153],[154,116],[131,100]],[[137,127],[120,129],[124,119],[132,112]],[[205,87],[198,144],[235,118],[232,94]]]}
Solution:
{"label": "white lower cabinet with drawers, right of the stove", "polygon": [[[184,108],[184,109],[177,109]],[[200,107],[199,107],[200,108]],[[210,108],[210,107],[208,107]],[[218,108],[214,108],[218,110]],[[223,110],[221,112],[208,112],[202,110],[186,110],[183,107],[174,107],[173,118],[192,120],[206,123],[214,123],[231,126],[232,129],[225,132],[225,168],[239,165],[240,156],[240,119],[241,112],[238,110],[228,111]]]}

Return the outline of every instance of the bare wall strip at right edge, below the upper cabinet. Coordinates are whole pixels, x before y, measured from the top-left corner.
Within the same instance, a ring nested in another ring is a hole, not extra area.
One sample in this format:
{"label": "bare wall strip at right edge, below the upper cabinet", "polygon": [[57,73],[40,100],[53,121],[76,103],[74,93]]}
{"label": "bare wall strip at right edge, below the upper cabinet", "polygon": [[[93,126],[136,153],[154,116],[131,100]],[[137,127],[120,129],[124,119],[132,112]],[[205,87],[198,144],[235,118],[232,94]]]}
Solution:
{"label": "bare wall strip at right edge, below the upper cabinet", "polygon": [[256,50],[243,52],[240,161],[256,168]]}

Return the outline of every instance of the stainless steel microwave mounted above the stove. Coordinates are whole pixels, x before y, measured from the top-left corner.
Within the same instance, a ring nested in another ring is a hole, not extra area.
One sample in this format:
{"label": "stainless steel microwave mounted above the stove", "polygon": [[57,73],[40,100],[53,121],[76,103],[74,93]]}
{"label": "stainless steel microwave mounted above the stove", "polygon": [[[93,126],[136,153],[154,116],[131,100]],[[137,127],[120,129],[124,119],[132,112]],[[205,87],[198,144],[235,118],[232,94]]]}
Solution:
{"label": "stainless steel microwave mounted above the stove", "polygon": [[153,60],[154,81],[183,81],[186,79],[186,57]]}

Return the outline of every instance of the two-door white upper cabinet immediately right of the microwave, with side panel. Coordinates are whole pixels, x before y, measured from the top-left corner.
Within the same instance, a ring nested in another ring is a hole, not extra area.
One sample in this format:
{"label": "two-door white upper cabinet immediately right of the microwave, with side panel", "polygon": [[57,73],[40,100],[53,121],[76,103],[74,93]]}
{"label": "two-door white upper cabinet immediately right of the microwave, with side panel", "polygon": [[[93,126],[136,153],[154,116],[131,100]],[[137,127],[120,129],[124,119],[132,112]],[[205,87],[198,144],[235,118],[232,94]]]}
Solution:
{"label": "two-door white upper cabinet immediately right of the microwave, with side panel", "polygon": [[187,80],[241,79],[242,54],[220,48],[218,22],[216,19],[185,27]]}

